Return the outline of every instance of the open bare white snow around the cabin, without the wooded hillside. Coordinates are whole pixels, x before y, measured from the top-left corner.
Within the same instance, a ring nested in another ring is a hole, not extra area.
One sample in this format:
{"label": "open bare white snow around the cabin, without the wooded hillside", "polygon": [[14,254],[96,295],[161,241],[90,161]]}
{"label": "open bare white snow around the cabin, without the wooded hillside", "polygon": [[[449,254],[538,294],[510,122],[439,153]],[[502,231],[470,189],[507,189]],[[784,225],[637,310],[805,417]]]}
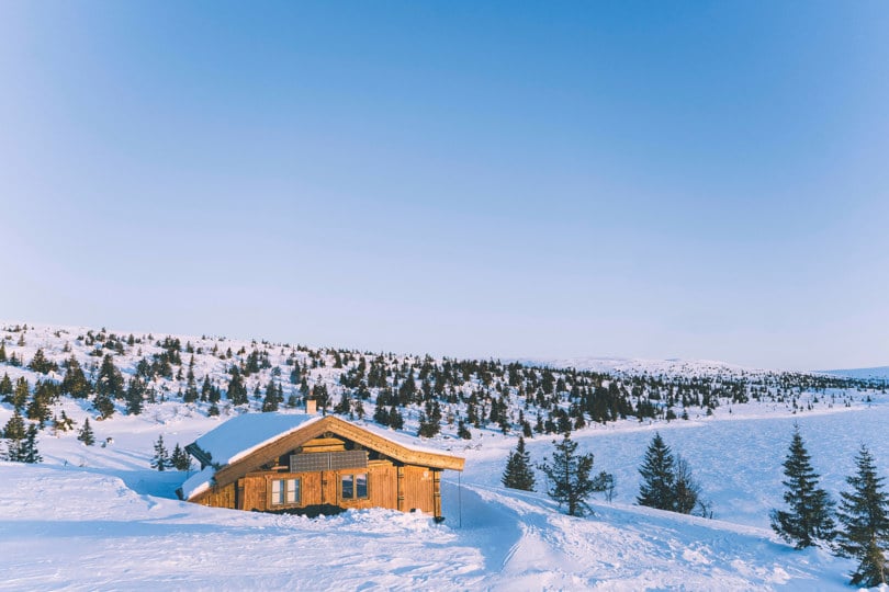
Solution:
{"label": "open bare white snow around the cabin, without the wooded hillside", "polygon": [[[29,338],[25,360],[38,345],[61,355],[60,340],[78,330],[55,340],[52,330],[40,331]],[[212,362],[199,357],[201,375],[224,372]],[[23,367],[3,369],[31,376]],[[640,361],[611,371],[747,372]],[[582,452],[596,455],[594,470],[617,478],[612,502],[599,496],[586,517],[561,513],[542,492],[541,474],[534,493],[500,487],[513,434],[473,429],[470,441],[426,440],[424,446],[466,458],[462,475],[444,474],[440,525],[389,510],[310,520],[181,502],[175,490],[188,474],[151,470],[154,442],[164,435],[169,448],[185,445],[233,410],[211,418],[200,405],[150,403],[140,415],[93,422],[94,446],[75,432],[44,431],[42,464],[0,463],[0,590],[848,590],[852,561],[796,551],[768,527],[768,511],[781,504],[781,462],[795,422],[834,497],[863,442],[889,476],[889,396],[852,391],[837,397],[842,405],[819,397],[800,396],[797,413],[786,402],[752,401],[687,421],[629,419],[575,431]],[[78,425],[94,417],[87,400],[66,398],[54,408],[61,410]],[[0,425],[11,413],[0,405]],[[655,431],[689,462],[713,520],[634,505],[637,469]],[[528,441],[534,463],[551,454],[552,440]]]}

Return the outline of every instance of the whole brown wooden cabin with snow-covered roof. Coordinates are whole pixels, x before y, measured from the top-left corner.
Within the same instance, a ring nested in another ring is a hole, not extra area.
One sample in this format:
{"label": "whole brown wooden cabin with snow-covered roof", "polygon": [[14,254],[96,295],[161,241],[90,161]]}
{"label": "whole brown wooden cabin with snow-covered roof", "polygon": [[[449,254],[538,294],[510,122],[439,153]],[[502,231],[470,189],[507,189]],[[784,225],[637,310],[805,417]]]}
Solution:
{"label": "whole brown wooden cabin with snow-covered roof", "polygon": [[181,499],[308,515],[390,508],[443,520],[441,471],[463,470],[464,463],[375,426],[305,413],[238,415],[185,449],[202,470],[178,491]]}

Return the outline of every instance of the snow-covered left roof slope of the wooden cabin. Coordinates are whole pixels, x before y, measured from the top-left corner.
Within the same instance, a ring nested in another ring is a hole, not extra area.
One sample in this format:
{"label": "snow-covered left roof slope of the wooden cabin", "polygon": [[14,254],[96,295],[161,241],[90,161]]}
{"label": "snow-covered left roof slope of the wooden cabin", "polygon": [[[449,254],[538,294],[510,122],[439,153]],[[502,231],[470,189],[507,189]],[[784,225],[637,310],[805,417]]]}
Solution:
{"label": "snow-covered left roof slope of the wooden cabin", "polygon": [[319,419],[322,415],[307,413],[245,413],[232,418],[194,443],[211,455],[214,465],[225,466]]}

